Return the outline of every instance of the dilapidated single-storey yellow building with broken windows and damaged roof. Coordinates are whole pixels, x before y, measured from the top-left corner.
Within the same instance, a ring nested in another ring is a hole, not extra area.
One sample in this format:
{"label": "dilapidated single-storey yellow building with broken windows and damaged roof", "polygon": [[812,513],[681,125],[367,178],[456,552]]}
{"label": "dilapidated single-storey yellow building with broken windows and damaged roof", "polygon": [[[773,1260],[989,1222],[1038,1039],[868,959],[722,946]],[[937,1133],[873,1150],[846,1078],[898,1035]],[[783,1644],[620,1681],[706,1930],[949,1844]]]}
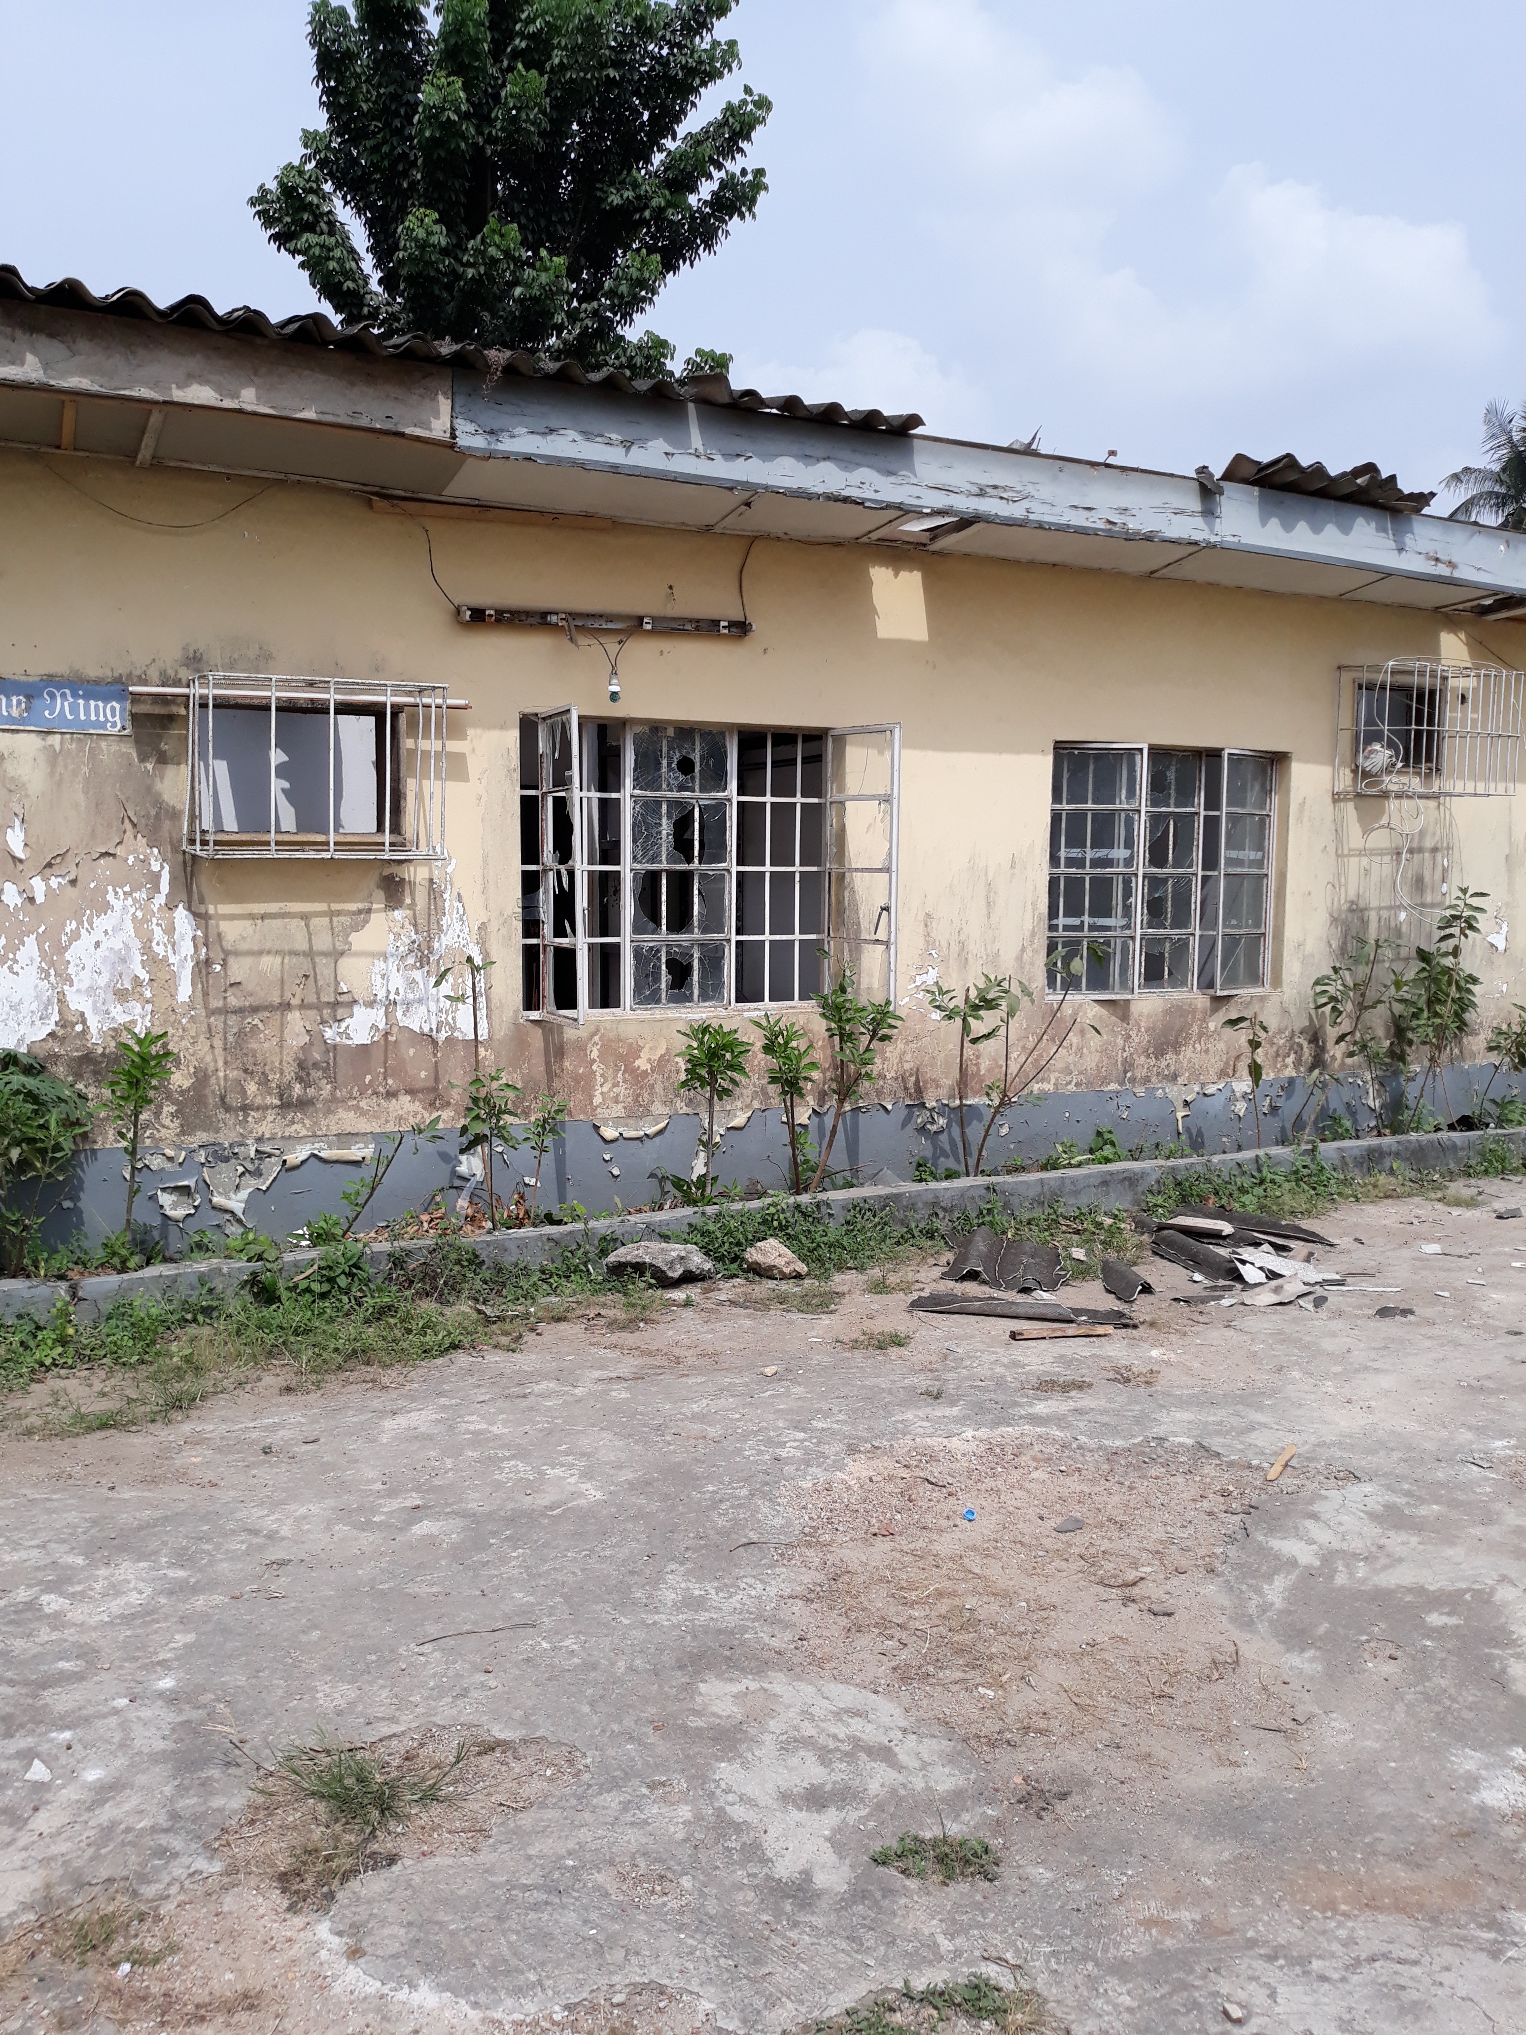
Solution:
{"label": "dilapidated single-storey yellow building with broken windows and damaged roof", "polygon": [[[928,991],[987,969],[1025,1038],[1084,971],[1030,1152],[1253,1142],[1225,1018],[1302,1074],[1314,977],[1461,883],[1510,1007],[1526,537],[918,425],[0,269],[0,1044],[169,1030],[161,1170],[277,1227],[474,1052],[643,1203],[680,1026],[842,963],[905,1020],[861,1176],[948,1164]],[[722,1174],[781,1178],[765,1103]]]}

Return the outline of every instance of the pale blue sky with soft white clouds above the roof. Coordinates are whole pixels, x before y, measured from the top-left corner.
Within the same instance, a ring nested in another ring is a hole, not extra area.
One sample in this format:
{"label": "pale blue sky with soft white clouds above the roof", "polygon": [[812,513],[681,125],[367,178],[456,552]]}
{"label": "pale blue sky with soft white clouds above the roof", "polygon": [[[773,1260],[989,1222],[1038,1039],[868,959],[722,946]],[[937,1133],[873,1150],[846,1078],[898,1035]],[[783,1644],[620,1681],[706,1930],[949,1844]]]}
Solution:
{"label": "pale blue sky with soft white clouds above the roof", "polygon": [[[0,260],[313,305],[246,197],[317,118],[305,0],[0,0]],[[732,381],[1190,472],[1430,488],[1526,399],[1520,0],[741,0],[769,193],[651,324]]]}

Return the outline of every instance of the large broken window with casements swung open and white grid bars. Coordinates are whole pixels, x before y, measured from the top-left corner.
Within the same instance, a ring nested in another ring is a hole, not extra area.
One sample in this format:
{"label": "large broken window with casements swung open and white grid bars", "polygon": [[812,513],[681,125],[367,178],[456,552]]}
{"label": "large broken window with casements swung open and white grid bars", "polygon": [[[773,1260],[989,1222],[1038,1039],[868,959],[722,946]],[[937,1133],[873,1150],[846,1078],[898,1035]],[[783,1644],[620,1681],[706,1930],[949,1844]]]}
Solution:
{"label": "large broken window with casements swung open and white grid bars", "polygon": [[899,731],[588,722],[564,708],[525,716],[519,747],[527,1013],[802,1003],[828,944],[889,981]]}

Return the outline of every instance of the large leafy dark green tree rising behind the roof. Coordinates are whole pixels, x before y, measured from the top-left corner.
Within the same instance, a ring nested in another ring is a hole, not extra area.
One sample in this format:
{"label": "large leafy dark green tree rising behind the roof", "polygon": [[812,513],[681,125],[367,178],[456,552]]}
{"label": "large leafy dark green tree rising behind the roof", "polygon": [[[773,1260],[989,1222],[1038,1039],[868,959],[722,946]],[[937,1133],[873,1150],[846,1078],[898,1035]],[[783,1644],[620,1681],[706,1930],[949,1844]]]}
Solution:
{"label": "large leafy dark green tree rising behind the roof", "polygon": [[684,126],[741,63],[714,35],[732,6],[313,0],[326,126],[254,218],[342,319],[667,374],[673,346],[633,322],[767,189],[743,163],[773,110],[751,85]]}

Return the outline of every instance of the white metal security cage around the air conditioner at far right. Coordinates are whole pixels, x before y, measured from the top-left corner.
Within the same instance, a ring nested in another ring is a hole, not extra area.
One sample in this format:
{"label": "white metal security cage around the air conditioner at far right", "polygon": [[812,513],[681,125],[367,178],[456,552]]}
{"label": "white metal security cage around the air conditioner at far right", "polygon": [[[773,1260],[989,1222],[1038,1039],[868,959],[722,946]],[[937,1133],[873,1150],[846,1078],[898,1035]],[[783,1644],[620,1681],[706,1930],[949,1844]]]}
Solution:
{"label": "white metal security cage around the air conditioner at far right", "polygon": [[1337,798],[1514,796],[1526,674],[1495,663],[1343,663]]}

